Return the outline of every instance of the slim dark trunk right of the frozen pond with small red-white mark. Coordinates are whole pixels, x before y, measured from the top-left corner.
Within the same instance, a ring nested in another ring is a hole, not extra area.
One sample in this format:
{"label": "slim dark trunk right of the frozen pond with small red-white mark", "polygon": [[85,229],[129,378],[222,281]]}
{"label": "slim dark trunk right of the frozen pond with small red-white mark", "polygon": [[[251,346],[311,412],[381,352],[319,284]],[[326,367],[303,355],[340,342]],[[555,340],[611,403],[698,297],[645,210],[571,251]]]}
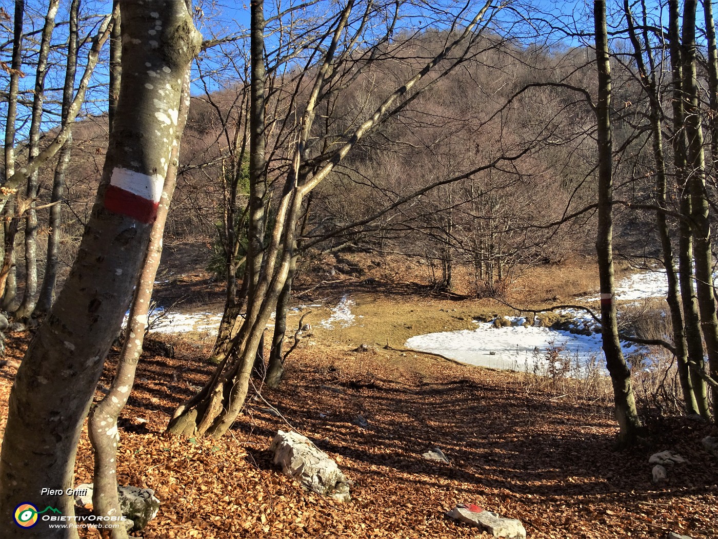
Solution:
{"label": "slim dark trunk right of the frozen pond with small red-white mark", "polygon": [[598,101],[596,103],[598,144],[598,227],[596,254],[601,289],[601,326],[606,366],[611,375],[619,442],[635,443],[641,424],[635,397],[618,338],[616,305],[613,298],[613,150],[611,136],[611,68],[606,29],[605,0],[594,0]]}

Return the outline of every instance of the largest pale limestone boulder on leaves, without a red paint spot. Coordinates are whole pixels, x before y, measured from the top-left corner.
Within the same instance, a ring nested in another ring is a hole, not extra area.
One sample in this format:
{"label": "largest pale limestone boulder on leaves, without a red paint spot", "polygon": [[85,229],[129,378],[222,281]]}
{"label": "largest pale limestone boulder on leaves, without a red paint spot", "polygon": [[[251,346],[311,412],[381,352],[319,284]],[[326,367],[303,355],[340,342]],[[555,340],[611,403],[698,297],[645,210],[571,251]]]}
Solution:
{"label": "largest pale limestone boulder on leaves, without a red paint spot", "polygon": [[350,501],[349,480],[337,463],[306,436],[279,430],[269,450],[274,451],[274,464],[281,464],[282,471],[302,487],[340,502]]}

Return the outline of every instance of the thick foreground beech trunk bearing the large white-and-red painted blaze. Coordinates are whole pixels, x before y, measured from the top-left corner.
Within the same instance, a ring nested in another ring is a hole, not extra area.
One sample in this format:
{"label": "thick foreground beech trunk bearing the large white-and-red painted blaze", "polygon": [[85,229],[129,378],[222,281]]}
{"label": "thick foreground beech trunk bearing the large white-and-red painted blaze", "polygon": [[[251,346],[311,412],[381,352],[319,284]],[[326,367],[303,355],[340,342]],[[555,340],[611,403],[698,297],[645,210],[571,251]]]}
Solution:
{"label": "thick foreground beech trunk bearing the large white-and-red painted blaze", "polygon": [[[200,50],[183,0],[121,1],[123,77],[98,198],[57,302],[32,339],[9,400],[0,459],[0,518],[28,500],[74,514],[83,419],[120,327],[172,153],[182,80]],[[154,39],[148,39],[151,36]],[[149,65],[147,65],[149,64]],[[116,428],[104,436],[116,443]],[[76,530],[4,525],[6,538],[77,537]]]}

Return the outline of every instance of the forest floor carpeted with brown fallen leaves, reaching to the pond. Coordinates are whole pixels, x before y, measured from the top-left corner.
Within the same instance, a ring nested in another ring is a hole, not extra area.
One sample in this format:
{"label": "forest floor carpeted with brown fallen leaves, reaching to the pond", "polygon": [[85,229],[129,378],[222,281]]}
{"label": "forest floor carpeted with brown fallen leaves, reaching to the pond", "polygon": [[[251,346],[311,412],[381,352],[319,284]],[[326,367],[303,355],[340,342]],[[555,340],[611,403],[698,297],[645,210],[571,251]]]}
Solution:
{"label": "forest floor carpeted with brown fallen leaves, reaching to the pond", "polygon": [[[315,324],[307,346],[289,359],[283,386],[251,389],[243,414],[220,440],[164,433],[174,408],[213,372],[210,346],[193,335],[162,336],[174,345],[174,358],[144,354],[120,421],[118,482],[154,489],[162,507],[138,536],[488,537],[444,517],[459,503],[474,503],[518,518],[529,538],[658,539],[668,531],[718,538],[718,461],[701,446],[701,438],[718,434],[714,426],[646,415],[640,445],[618,451],[610,403],[567,390],[565,380],[559,387],[531,374],[383,349],[395,333],[391,344],[398,347],[404,333],[461,328],[467,321],[460,318],[480,305],[396,290],[360,303],[374,305],[364,315],[369,327],[329,331]],[[361,305],[353,312],[360,315]],[[11,333],[9,359],[22,359],[28,340]],[[360,343],[368,351],[352,351]],[[0,434],[14,373],[11,365],[0,369]],[[268,413],[269,405],[282,417]],[[351,502],[304,492],[272,464],[271,439],[292,428],[337,461],[353,482]],[[449,464],[422,458],[434,446]],[[668,482],[656,486],[648,458],[666,450],[689,462],[673,466]],[[85,429],[75,483],[92,482],[92,470]]]}

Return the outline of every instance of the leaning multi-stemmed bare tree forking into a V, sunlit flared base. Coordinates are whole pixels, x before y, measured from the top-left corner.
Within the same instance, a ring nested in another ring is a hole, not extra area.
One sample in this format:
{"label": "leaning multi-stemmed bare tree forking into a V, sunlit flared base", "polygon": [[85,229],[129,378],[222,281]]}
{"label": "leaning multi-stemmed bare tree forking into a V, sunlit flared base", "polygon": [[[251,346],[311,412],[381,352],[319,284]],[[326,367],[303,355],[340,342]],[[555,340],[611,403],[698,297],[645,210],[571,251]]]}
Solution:
{"label": "leaning multi-stemmed bare tree forking into a V, sunlit flared base", "polygon": [[[255,4],[253,4],[255,6]],[[358,6],[357,6],[358,7]],[[355,3],[349,0],[341,11],[332,17],[332,25],[325,32],[327,46],[322,50],[322,57],[318,62],[312,62],[317,67],[310,73],[313,75],[309,85],[307,101],[304,103],[301,121],[297,134],[297,142],[292,151],[289,172],[281,188],[276,206],[274,229],[271,231],[268,243],[262,252],[261,270],[255,290],[248,296],[247,314],[243,319],[241,328],[231,341],[231,346],[220,356],[220,364],[213,377],[202,391],[189,402],[180,406],[174,413],[169,424],[169,431],[177,434],[208,434],[222,436],[230,428],[241,407],[248,391],[248,381],[251,375],[256,351],[264,334],[264,327],[269,320],[271,312],[276,307],[279,294],[284,287],[289,268],[294,257],[294,245],[297,239],[297,222],[302,214],[304,200],[307,195],[322,180],[330,175],[335,166],[339,164],[353,149],[365,134],[404,109],[426,86],[420,87],[427,75],[434,75],[436,70],[440,76],[448,73],[455,65],[462,62],[461,52],[456,56],[457,50],[465,51],[472,39],[475,39],[482,24],[487,24],[485,16],[495,7],[488,1],[470,17],[465,29],[449,36],[447,45],[432,57],[418,70],[409,75],[388,95],[381,99],[373,111],[366,111],[366,119],[352,129],[348,136],[332,145],[329,152],[312,157],[312,128],[314,119],[319,114],[319,105],[327,93],[339,93],[345,86],[336,83],[340,78],[344,61],[353,54],[354,45],[363,37],[365,27],[375,13],[376,6],[369,4],[361,9],[358,15],[353,15]],[[390,19],[391,20],[391,19]],[[347,33],[348,32],[348,33]],[[393,34],[393,25],[388,24],[387,37]],[[340,44],[344,44],[340,48]],[[317,53],[320,48],[317,47]],[[378,50],[369,49],[368,55],[377,54]],[[448,66],[439,69],[439,64],[447,60]],[[361,72],[361,70],[359,70]],[[352,79],[356,71],[345,72]],[[435,79],[434,79],[435,80]],[[251,132],[256,134],[256,132]],[[248,260],[248,264],[252,262]]]}

